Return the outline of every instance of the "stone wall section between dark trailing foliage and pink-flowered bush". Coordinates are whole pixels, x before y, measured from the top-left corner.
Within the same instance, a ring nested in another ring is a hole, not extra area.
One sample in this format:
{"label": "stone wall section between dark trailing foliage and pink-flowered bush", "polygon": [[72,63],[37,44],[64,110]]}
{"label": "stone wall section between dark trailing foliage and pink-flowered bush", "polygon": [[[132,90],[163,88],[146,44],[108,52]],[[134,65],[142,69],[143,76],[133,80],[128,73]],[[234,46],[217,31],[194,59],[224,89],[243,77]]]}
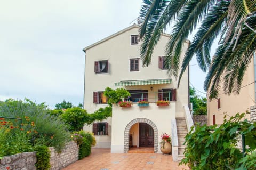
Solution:
{"label": "stone wall section between dark trailing foliage and pink-flowered bush", "polygon": [[50,147],[49,149],[51,151],[51,170],[59,170],[65,168],[69,164],[72,164],[78,160],[79,147],[74,141],[66,144],[61,153],[57,153],[54,147]]}

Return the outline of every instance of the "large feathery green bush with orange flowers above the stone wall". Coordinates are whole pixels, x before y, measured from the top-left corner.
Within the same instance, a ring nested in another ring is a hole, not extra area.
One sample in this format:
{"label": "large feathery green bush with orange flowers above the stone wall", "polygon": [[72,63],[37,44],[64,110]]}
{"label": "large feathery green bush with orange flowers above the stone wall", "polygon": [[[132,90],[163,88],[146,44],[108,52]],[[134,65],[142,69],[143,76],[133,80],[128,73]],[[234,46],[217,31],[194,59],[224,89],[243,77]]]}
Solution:
{"label": "large feathery green bush with orange flowers above the stone wall", "polygon": [[[70,134],[66,131],[67,126],[65,123],[58,118],[47,115],[46,108],[45,103],[36,104],[28,99],[25,99],[24,102],[9,99],[0,103],[0,116],[21,118],[23,125],[25,125],[22,126],[25,133],[28,131],[33,132],[34,130],[37,132],[29,135],[31,144],[53,146],[57,151],[60,151],[65,146],[65,143],[70,140]],[[11,121],[13,126],[18,126],[18,122]],[[33,130],[31,129],[32,122],[35,124]],[[13,140],[15,140],[15,136],[17,135],[13,135]],[[18,137],[22,137],[22,135]],[[18,143],[16,145],[18,147]],[[20,145],[20,147],[22,146]]]}

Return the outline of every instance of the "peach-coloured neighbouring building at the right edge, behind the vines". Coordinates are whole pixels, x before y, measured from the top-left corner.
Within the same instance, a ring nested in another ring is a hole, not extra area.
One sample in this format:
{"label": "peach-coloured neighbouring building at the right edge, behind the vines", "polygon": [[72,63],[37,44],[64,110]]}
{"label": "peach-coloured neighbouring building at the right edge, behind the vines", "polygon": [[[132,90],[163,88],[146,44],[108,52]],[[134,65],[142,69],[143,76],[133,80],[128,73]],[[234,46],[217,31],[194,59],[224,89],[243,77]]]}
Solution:
{"label": "peach-coloured neighbouring building at the right edge, behind the vines", "polygon": [[[247,71],[244,74],[242,88],[239,94],[224,94],[222,87],[219,96],[211,102],[207,101],[208,125],[222,124],[226,113],[229,116],[235,116],[238,112],[250,111],[250,107],[255,105],[255,57],[251,60]],[[228,118],[228,117],[227,117]],[[250,115],[246,118],[250,119]]]}

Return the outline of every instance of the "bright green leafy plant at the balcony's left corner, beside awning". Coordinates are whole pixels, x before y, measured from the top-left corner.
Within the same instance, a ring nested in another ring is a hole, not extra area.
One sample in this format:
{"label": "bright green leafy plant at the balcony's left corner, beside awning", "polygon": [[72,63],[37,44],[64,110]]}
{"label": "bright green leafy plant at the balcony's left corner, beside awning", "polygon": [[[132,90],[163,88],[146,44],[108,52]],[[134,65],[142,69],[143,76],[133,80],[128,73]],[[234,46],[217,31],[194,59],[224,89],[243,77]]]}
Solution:
{"label": "bright green leafy plant at the balcony's left corner, beside awning", "polygon": [[104,95],[108,99],[108,104],[111,106],[113,103],[118,103],[120,101],[123,101],[124,99],[131,96],[131,94],[125,90],[124,88],[117,88],[116,90],[113,90],[110,87],[107,87],[104,91]]}

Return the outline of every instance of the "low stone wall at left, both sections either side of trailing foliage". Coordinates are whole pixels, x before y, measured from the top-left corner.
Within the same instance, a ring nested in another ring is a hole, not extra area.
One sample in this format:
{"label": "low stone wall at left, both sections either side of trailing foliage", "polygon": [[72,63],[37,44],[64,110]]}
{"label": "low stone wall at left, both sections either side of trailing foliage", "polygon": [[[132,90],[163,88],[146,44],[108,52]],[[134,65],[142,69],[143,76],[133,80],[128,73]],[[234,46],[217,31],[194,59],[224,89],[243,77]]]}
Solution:
{"label": "low stone wall at left, both sections either side of trailing foliage", "polygon": [[[54,147],[50,147],[49,149],[51,151],[51,170],[63,169],[78,160],[79,147],[74,141],[67,143],[61,153],[57,153]],[[3,157],[0,160],[0,170],[35,170],[35,163],[36,152],[19,153]]]}

